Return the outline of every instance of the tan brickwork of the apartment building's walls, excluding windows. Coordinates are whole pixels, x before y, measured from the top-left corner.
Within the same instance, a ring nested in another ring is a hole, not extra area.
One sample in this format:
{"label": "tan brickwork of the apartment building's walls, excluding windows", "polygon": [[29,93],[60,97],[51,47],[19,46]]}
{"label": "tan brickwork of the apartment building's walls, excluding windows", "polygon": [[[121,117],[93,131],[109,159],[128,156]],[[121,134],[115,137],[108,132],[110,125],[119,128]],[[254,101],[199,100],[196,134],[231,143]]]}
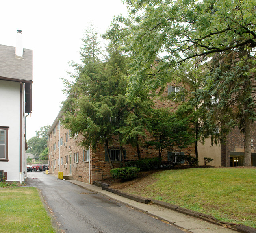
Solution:
{"label": "tan brickwork of the apartment building's walls, excluding windows", "polygon": [[[171,85],[176,85],[172,83]],[[167,88],[164,90],[162,96],[167,96]],[[159,98],[154,99],[156,103],[156,107],[172,107],[173,111],[178,108],[177,103],[169,102],[169,101],[161,101]],[[53,127],[54,129],[55,127]],[[82,181],[85,183],[89,183],[89,162],[83,162],[83,150],[78,145],[78,142],[81,138],[78,136],[77,139],[69,138],[68,141],[65,142],[65,133],[69,134],[67,129],[64,129],[62,126],[58,129],[56,124],[56,129],[50,132],[50,139],[49,139],[49,172],[58,175],[58,171],[63,171],[63,176],[70,174],[70,159],[69,156],[71,155],[71,173],[74,179],[78,181]],[[149,133],[147,133],[150,137]],[[58,147],[58,140],[63,138],[63,145]],[[51,150],[52,146],[56,143],[56,150]],[[64,146],[65,143],[65,146]],[[113,140],[113,145],[109,146],[109,149],[119,149],[119,143],[117,140]],[[130,145],[125,145],[124,149],[126,150],[126,159],[127,160],[135,160],[137,159],[137,150]],[[143,146],[140,147],[141,149],[141,157],[142,158],[151,158],[151,157],[158,157],[158,151],[154,149],[145,149]],[[195,155],[195,148],[194,145],[189,146],[183,150],[179,150],[178,148],[173,149],[165,149],[162,152],[163,160],[167,160],[167,152],[171,150],[172,152],[184,152],[187,155]],[[79,155],[78,163],[76,164],[76,168],[74,167],[74,153]],[[68,164],[65,165],[65,156],[68,156]],[[58,158],[60,160],[60,164],[58,165]],[[63,159],[63,164],[61,164],[61,158]],[[95,180],[100,180],[104,178],[108,178],[110,176],[109,170],[110,164],[108,161],[105,161],[105,148],[102,145],[98,145],[96,151],[90,150],[90,159],[91,159],[91,180],[92,183]],[[56,166],[54,168],[54,164],[56,161]],[[65,165],[65,167],[64,167]],[[120,162],[113,162],[113,166],[115,168],[120,166]]]}

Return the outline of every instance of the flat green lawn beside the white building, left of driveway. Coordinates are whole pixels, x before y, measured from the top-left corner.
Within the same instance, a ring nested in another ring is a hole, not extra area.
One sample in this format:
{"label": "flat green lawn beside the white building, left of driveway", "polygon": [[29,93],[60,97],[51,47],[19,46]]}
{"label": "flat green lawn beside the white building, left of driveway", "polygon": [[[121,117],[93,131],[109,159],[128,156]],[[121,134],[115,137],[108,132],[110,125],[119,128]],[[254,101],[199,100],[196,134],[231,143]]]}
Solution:
{"label": "flat green lawn beside the white building, left of driveway", "polygon": [[35,187],[0,188],[1,233],[55,233]]}

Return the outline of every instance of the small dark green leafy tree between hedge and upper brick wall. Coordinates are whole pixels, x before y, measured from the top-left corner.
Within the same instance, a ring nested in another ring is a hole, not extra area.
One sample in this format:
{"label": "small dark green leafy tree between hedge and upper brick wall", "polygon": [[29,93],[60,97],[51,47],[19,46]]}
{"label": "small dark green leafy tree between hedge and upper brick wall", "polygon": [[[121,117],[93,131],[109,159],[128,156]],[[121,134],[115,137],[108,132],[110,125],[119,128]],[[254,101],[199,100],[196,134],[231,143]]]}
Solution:
{"label": "small dark green leafy tree between hedge and upper brick wall", "polygon": [[146,148],[157,149],[159,158],[165,148],[172,150],[177,146],[182,149],[194,142],[190,121],[186,116],[171,113],[167,108],[152,111],[148,131],[154,139],[146,141]]}

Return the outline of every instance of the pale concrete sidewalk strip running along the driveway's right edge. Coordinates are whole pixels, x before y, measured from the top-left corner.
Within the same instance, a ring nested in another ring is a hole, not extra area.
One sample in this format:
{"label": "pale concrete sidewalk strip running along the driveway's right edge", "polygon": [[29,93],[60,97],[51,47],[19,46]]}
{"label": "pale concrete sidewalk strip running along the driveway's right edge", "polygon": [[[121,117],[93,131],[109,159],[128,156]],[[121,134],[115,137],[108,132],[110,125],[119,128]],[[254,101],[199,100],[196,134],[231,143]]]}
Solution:
{"label": "pale concrete sidewalk strip running along the driveway's right edge", "polygon": [[[169,222],[170,224],[173,224],[174,226],[177,226],[177,227],[180,227],[181,229],[187,230],[188,232],[193,232],[193,233],[234,233],[234,232],[237,232],[236,230],[229,229],[227,227],[213,224],[210,222],[206,222],[204,220],[195,218],[193,216],[179,213],[175,210],[165,208],[160,205],[144,204],[141,202],[137,202],[137,201],[125,198],[123,196],[119,196],[115,193],[103,190],[101,187],[98,187],[95,185],[83,183],[81,181],[76,181],[76,180],[66,180],[66,181],[74,183],[75,185],[83,187],[92,192],[102,194],[108,198],[117,200],[118,202],[121,202],[125,205],[128,205],[128,206],[134,208],[134,209],[137,209],[139,211],[147,213],[148,215],[154,216],[161,220],[165,220],[165,221]],[[250,231],[241,231],[241,232],[250,232]],[[256,231],[252,231],[252,232],[256,233]]]}

